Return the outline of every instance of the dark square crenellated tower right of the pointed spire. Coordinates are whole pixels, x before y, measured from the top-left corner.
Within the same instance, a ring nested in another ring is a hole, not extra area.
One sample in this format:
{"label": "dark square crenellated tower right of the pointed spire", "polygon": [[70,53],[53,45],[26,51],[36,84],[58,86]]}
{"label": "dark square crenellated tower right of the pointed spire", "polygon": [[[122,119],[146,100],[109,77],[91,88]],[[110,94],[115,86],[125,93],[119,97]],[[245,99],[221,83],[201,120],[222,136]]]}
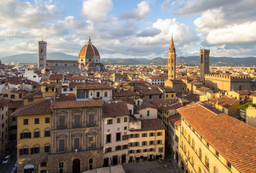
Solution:
{"label": "dark square crenellated tower right of the pointed spire", "polygon": [[209,74],[210,49],[200,49],[200,81],[205,84],[205,74]]}

